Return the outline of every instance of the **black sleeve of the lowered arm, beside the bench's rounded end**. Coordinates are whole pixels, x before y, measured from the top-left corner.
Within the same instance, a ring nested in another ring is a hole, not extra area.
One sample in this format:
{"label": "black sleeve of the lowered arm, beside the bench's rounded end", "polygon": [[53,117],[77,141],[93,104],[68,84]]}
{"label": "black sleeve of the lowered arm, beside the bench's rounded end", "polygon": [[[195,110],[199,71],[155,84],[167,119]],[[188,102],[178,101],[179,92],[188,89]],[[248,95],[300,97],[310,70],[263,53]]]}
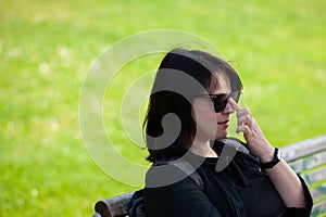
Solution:
{"label": "black sleeve of the lowered arm, beside the bench's rounded end", "polygon": [[145,204],[149,217],[221,216],[190,177],[166,187],[146,188]]}

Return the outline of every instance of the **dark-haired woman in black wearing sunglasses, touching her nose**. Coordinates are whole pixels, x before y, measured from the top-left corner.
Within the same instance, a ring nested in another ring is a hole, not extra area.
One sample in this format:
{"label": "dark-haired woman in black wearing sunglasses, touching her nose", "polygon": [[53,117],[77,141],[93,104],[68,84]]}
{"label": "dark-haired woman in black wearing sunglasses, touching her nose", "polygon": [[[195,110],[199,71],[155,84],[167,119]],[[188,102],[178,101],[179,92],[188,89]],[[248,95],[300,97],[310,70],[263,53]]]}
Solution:
{"label": "dark-haired woman in black wearing sunglasses, touching her nose", "polygon": [[[235,69],[216,56],[184,49],[165,55],[143,125],[153,163],[149,216],[310,216],[306,184],[237,104],[241,89]],[[233,113],[246,143],[225,140]]]}

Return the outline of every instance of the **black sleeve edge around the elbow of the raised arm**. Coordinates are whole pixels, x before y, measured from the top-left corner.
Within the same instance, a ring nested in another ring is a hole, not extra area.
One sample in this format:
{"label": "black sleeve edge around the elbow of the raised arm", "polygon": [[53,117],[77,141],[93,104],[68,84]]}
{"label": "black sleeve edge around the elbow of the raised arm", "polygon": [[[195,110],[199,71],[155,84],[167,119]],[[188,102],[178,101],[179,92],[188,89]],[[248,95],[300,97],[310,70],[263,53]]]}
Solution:
{"label": "black sleeve edge around the elbow of the raised arm", "polygon": [[308,189],[308,186],[305,184],[302,177],[299,176],[299,178],[300,178],[301,184],[303,187],[306,207],[304,207],[304,208],[297,208],[297,207],[286,208],[285,217],[309,217],[311,214],[312,206],[313,206],[313,199],[312,199],[311,193]]}

